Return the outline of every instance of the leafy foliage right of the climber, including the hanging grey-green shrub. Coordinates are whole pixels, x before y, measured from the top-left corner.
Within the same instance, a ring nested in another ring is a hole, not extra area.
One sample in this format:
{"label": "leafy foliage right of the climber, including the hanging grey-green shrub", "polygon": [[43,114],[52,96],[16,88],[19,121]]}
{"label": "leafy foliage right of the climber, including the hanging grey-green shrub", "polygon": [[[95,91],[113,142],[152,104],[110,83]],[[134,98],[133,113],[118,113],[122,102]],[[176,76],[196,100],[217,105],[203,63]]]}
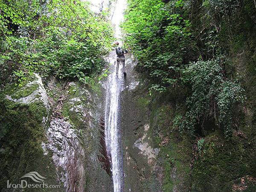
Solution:
{"label": "leafy foliage right of the climber, including the hanging grey-green shrub", "polygon": [[[122,24],[125,43],[153,82],[150,92],[190,87],[187,110],[174,121],[180,131],[193,135],[205,119],[215,119],[225,136],[232,133],[232,109],[242,100],[243,89],[230,80],[219,59],[225,59],[227,52],[220,40],[221,27],[235,21],[240,4],[239,0],[128,0]],[[232,36],[228,28],[225,34]]]}

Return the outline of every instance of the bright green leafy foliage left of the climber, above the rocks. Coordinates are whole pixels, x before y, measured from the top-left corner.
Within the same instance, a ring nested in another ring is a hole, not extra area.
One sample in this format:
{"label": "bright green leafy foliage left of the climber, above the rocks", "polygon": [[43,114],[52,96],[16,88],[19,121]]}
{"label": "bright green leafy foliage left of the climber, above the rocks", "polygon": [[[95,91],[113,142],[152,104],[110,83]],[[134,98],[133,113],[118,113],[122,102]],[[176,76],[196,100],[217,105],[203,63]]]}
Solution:
{"label": "bright green leafy foliage left of the climber, above the rocks", "polygon": [[87,81],[103,66],[113,33],[107,13],[79,0],[1,0],[0,8],[1,83],[31,72]]}

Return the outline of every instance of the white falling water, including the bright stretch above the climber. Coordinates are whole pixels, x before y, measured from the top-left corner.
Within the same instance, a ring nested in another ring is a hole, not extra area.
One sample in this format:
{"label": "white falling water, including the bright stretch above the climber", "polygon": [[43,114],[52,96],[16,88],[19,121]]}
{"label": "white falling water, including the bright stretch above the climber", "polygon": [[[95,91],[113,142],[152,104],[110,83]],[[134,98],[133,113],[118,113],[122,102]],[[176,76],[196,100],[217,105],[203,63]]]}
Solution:
{"label": "white falling water, including the bright stretch above the climber", "polygon": [[[125,1],[117,0],[116,6],[111,18],[115,29],[115,37],[121,38],[119,27],[123,18]],[[121,42],[120,42],[121,43]],[[122,91],[123,74],[122,69],[116,71],[116,54],[109,54],[111,64],[111,74],[108,76],[106,109],[105,109],[105,143],[108,156],[111,160],[111,171],[113,179],[114,192],[123,191],[123,168],[122,168],[122,143],[120,138],[120,97]]]}

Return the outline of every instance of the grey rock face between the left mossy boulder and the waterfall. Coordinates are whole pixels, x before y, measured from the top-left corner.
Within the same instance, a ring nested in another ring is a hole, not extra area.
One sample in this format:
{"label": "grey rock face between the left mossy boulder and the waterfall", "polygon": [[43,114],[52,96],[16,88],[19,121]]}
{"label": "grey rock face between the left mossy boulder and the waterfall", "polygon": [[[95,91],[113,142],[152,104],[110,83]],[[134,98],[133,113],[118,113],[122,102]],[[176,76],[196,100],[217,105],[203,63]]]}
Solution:
{"label": "grey rock face between the left mossy boulder and the waterfall", "polygon": [[56,110],[45,148],[52,154],[59,180],[67,191],[111,191],[111,175],[102,161],[101,87],[78,82],[60,86],[54,81],[48,87]]}

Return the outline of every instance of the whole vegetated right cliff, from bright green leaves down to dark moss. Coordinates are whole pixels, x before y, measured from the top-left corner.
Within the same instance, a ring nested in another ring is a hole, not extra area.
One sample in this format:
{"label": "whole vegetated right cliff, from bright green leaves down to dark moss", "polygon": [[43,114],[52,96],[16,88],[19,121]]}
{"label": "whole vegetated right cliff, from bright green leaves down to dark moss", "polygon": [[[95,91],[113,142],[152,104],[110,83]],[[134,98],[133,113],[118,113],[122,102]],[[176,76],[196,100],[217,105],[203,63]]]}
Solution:
{"label": "whole vegetated right cliff, from bright green leaves down to dark moss", "polygon": [[149,80],[163,190],[253,191],[255,1],[128,0],[122,28]]}

